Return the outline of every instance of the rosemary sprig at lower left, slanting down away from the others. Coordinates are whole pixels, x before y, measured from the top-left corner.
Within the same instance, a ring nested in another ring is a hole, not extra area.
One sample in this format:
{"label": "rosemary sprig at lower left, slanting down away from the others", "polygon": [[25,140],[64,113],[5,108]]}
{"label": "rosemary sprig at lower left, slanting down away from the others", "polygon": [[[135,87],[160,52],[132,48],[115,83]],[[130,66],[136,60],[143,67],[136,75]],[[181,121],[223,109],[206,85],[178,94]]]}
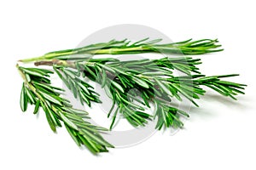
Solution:
{"label": "rosemary sprig at lower left, slanting down away from the others", "polygon": [[56,127],[61,127],[62,122],[76,144],[86,146],[94,154],[113,147],[100,134],[106,128],[85,122],[84,119],[90,118],[88,113],[73,109],[69,101],[61,97],[63,89],[50,85],[48,77],[52,71],[19,65],[17,68],[24,80],[20,94],[22,111],[26,111],[28,103],[35,105],[34,114],[42,107],[52,131],[56,132]]}

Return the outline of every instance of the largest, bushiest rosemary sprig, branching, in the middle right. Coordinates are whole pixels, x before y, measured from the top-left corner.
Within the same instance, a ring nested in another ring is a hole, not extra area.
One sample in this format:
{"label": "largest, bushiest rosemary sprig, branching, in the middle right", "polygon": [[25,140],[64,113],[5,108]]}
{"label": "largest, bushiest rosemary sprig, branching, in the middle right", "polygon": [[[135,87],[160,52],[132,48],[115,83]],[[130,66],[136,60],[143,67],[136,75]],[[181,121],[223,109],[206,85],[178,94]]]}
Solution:
{"label": "largest, bushiest rosemary sprig, branching, in the middle right", "polygon": [[[55,64],[77,69],[85,77],[100,83],[108,97],[113,99],[113,105],[118,105],[116,111],[111,109],[108,113],[108,116],[113,113],[110,129],[118,111],[131,125],[144,126],[152,117],[144,112],[145,108],[150,107],[148,104],[150,102],[155,104],[154,118],[158,118],[156,128],[182,127],[183,123],[179,116],[189,115],[172,105],[173,98],[182,101],[184,97],[198,106],[195,99],[200,99],[200,96],[206,93],[202,86],[212,88],[218,94],[232,99],[236,99],[237,94],[244,94],[241,90],[246,86],[222,80],[224,77],[238,75],[215,77],[201,75],[196,67],[201,64],[201,60],[187,57],[130,61],[87,59],[68,61],[65,64],[63,62],[55,60]],[[187,76],[175,77],[173,70],[181,71]]]}

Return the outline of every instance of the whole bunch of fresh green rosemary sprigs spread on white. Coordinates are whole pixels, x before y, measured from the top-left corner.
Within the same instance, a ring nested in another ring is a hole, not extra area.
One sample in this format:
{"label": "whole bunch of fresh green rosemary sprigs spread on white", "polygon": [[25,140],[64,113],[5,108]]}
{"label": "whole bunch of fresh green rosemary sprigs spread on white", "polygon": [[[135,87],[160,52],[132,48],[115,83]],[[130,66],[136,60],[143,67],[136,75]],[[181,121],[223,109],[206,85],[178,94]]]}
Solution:
{"label": "whole bunch of fresh green rosemary sprigs spread on white", "polygon": [[[212,77],[201,74],[198,68],[201,59],[179,56],[121,61],[92,57],[93,54],[139,53],[189,55],[223,50],[216,44],[218,40],[188,40],[168,44],[158,42],[160,39],[148,41],[146,38],[138,42],[126,39],[112,40],[20,61],[34,61],[37,66],[49,65],[82,105],[101,103],[99,94],[84,78],[99,83],[113,100],[108,112],[108,117],[112,117],[110,130],[113,129],[119,114],[134,127],[146,126],[147,122],[152,120],[156,120],[155,128],[159,130],[163,127],[182,127],[181,116],[189,117],[189,113],[180,110],[175,101],[183,102],[187,99],[199,106],[196,100],[206,94],[206,88],[212,88],[218,94],[231,99],[236,99],[237,94],[244,94],[245,84],[224,80],[226,77],[236,77],[237,74]],[[85,122],[83,118],[89,118],[87,112],[73,109],[62,95],[63,89],[50,84],[49,74],[52,74],[52,71],[20,66],[17,68],[24,79],[20,95],[22,111],[26,111],[28,103],[35,105],[34,114],[42,107],[54,132],[56,127],[61,127],[61,122],[64,123],[74,141],[78,145],[85,145],[93,153],[107,151],[107,147],[113,147],[100,135],[106,129]],[[146,113],[150,104],[154,104],[154,112],[151,114]]]}

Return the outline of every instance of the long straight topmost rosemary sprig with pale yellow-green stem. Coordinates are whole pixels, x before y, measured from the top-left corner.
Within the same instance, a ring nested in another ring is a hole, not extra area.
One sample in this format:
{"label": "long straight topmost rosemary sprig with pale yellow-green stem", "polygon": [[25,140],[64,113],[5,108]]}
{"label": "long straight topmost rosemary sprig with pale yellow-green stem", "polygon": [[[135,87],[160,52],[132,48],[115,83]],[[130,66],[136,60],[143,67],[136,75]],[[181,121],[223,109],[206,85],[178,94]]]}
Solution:
{"label": "long straight topmost rosemary sprig with pale yellow-green stem", "polygon": [[84,46],[82,48],[65,49],[54,51],[43,56],[32,59],[20,59],[22,62],[32,62],[42,59],[88,59],[94,54],[142,54],[142,53],[161,53],[161,54],[207,54],[222,51],[218,39],[192,39],[183,42],[172,42],[159,44],[161,39],[149,40],[144,38],[137,42],[124,39],[122,41],[111,40]]}

